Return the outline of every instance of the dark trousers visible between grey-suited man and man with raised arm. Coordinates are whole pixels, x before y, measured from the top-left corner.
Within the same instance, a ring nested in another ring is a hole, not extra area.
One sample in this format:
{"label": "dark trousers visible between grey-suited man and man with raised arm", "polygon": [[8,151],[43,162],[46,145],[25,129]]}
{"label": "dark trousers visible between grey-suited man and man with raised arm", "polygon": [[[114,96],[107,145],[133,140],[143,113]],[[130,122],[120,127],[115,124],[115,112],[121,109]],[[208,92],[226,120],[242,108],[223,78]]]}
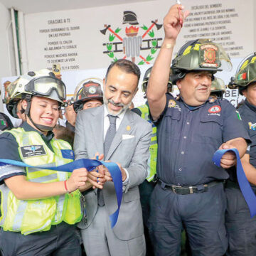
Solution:
{"label": "dark trousers visible between grey-suited man and man with raised arm", "polygon": [[155,185],[156,183],[152,181],[148,182],[146,180],[139,185],[140,201],[142,203],[144,235],[146,240],[146,256],[154,256],[154,249],[149,236],[148,221],[150,214],[150,198]]}

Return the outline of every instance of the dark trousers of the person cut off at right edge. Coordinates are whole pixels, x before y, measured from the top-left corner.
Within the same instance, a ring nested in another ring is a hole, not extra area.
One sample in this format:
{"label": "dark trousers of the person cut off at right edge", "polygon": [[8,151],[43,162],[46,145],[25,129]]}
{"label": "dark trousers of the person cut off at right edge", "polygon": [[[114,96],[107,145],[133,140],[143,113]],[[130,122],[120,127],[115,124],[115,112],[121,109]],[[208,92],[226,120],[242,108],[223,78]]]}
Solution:
{"label": "dark trousers of the person cut off at right edge", "polygon": [[[228,185],[227,185],[228,186]],[[256,255],[256,216],[250,210],[240,188],[225,188],[227,197],[226,228],[230,256]]]}

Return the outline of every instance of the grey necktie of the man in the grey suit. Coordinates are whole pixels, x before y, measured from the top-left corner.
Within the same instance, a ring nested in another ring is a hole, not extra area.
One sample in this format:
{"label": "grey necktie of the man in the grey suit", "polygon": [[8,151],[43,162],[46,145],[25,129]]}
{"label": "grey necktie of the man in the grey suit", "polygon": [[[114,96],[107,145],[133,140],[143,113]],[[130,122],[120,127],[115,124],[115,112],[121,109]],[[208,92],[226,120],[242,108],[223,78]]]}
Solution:
{"label": "grey necktie of the man in the grey suit", "polygon": [[[110,149],[110,145],[112,143],[112,140],[114,139],[114,134],[116,134],[117,129],[116,129],[116,120],[117,120],[117,116],[112,116],[110,114],[107,115],[110,119],[110,127],[109,129],[107,129],[107,133],[106,133],[106,137],[105,137],[105,141],[104,141],[104,158],[106,159],[107,156],[107,152]],[[98,205],[99,206],[104,206],[105,202],[104,202],[104,198],[103,198],[103,193],[102,193],[102,189],[98,189]]]}

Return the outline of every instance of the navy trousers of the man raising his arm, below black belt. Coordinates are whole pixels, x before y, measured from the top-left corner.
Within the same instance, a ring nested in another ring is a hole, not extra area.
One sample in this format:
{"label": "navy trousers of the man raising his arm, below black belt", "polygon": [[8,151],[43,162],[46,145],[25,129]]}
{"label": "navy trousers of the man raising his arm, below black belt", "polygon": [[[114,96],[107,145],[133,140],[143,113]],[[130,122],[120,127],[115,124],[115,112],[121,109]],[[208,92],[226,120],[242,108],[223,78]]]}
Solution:
{"label": "navy trousers of the man raising his arm, below black belt", "polygon": [[180,255],[186,229],[192,255],[222,256],[228,247],[225,193],[219,183],[203,193],[178,195],[156,185],[151,195],[149,232],[157,256]]}

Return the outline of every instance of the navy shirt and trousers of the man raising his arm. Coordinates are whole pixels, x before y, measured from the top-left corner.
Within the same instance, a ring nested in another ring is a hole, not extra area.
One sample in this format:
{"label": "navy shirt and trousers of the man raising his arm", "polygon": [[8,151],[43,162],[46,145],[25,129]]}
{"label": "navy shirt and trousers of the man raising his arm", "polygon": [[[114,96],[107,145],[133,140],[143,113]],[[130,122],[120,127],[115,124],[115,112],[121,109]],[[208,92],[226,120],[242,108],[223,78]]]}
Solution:
{"label": "navy shirt and trousers of the man raising his arm", "polygon": [[[235,108],[228,100],[209,98],[190,107],[166,94],[166,107],[156,122],[157,175],[161,180],[151,196],[149,226],[156,255],[179,255],[181,230],[186,228],[193,255],[223,255],[225,232],[223,181],[228,172],[213,164],[224,142],[248,139]],[[213,186],[205,189],[204,184]],[[178,194],[166,185],[196,186],[198,193]]]}

